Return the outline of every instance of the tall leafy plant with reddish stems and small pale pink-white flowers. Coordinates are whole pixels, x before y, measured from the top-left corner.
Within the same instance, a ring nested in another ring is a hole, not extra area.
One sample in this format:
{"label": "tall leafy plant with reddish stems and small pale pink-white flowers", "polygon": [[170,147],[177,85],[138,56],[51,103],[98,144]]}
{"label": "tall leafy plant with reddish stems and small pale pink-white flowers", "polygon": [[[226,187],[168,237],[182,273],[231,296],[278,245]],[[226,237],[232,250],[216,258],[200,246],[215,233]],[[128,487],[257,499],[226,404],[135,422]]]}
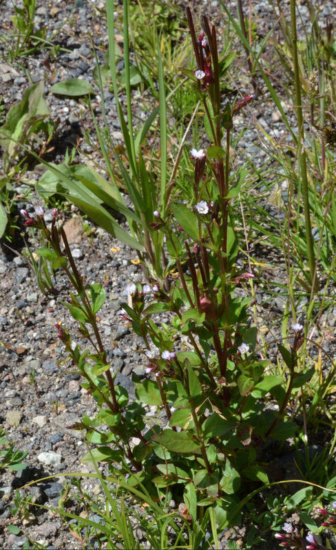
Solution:
{"label": "tall leafy plant with reddish stems and small pale pink-white flowers", "polygon": [[[253,96],[227,102],[223,109],[221,77],[229,60],[220,59],[216,28],[208,19],[204,17],[204,31],[197,35],[189,9],[187,16],[197,64],[190,78],[204,106],[211,144],[191,148],[189,203],[170,195],[163,210],[157,205],[155,221],[149,224],[166,245],[165,282],[128,287],[130,299],[122,314],[143,338],[148,360],[146,376],[133,375],[135,400],[116,385],[117,373],[99,334],[96,312],[104,303],[105,289],[100,283],[85,284],[65,232],[57,226],[56,211],[51,228],[43,209],[36,209],[36,217],[23,215],[25,225],[40,230],[48,242],[38,253],[69,278],[74,292],[64,305],[92,346],[82,350],[72,344],[70,333],[57,323],[83,388],[98,404],[94,418],[84,415],[72,426],[84,430],[93,446],[84,460],[107,462],[114,476],[126,479],[130,487],[159,494],[165,502],[184,502],[185,518],[197,521],[215,514],[222,529],[238,520],[250,483],[269,482],[261,452],[264,442],[284,441],[295,433],[297,425],[286,418],[286,406],[314,369],[297,371],[302,325],[293,325],[290,347],[279,344],[283,375],[274,373],[258,347],[246,286],[253,274],[236,265],[235,199],[243,181],[230,164],[233,117]],[[162,313],[169,323],[160,321]],[[266,407],[270,395],[272,408]],[[158,422],[149,428],[145,406],[165,413],[163,427]]]}

